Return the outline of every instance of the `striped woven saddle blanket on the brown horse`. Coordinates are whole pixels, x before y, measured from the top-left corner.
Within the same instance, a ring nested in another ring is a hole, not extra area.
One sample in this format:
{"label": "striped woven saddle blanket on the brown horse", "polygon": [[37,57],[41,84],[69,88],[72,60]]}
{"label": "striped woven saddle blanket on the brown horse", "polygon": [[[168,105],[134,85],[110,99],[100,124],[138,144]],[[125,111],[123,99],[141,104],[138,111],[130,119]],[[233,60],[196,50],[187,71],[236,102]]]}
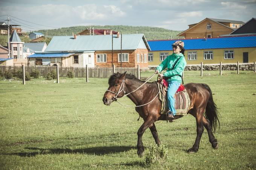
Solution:
{"label": "striped woven saddle blanket on the brown horse", "polygon": [[[159,85],[158,88],[161,88],[161,86]],[[160,110],[161,114],[166,114],[169,111],[168,100],[166,95],[167,95],[166,88],[163,87],[163,89],[161,90],[161,94],[159,94],[159,99],[160,101],[162,101],[162,107]],[[189,98],[189,94],[187,93],[187,90],[184,89],[182,91],[176,92],[174,95],[174,98],[175,98],[175,110],[177,111],[175,116],[186,115],[190,106],[190,98]]]}

